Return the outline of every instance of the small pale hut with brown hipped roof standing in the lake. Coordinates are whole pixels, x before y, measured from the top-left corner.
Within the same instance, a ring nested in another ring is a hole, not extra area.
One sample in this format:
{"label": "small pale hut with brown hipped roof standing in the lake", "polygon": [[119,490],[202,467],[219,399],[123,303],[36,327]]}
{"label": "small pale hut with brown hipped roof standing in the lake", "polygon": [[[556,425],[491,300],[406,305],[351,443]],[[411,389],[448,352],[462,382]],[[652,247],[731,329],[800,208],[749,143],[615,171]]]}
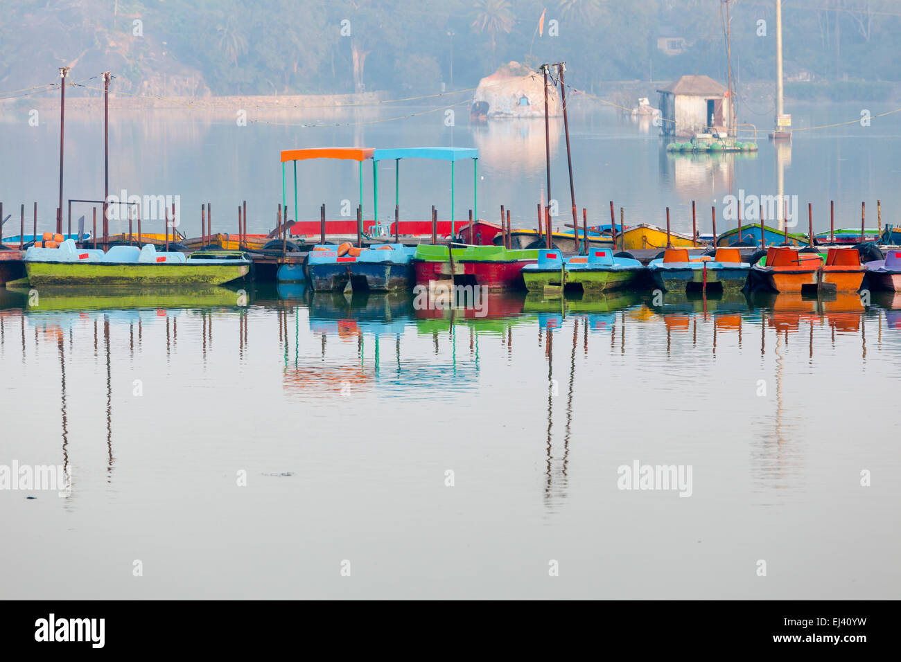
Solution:
{"label": "small pale hut with brown hipped roof standing in the lake", "polygon": [[708,76],[683,76],[660,92],[661,131],[665,136],[696,133],[735,135],[729,90]]}

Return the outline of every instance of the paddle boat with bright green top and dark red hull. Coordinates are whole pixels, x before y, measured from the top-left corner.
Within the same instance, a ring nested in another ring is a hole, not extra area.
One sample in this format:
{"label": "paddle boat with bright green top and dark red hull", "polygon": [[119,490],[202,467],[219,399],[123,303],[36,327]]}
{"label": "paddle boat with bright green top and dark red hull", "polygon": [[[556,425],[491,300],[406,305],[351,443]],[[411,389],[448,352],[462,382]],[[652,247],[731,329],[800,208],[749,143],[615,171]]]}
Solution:
{"label": "paddle boat with bright green top and dark red hull", "polygon": [[503,246],[447,246],[420,244],[413,267],[418,285],[441,281],[466,280],[468,285],[491,290],[518,289],[524,286],[522,269],[538,261],[538,249],[512,250]]}

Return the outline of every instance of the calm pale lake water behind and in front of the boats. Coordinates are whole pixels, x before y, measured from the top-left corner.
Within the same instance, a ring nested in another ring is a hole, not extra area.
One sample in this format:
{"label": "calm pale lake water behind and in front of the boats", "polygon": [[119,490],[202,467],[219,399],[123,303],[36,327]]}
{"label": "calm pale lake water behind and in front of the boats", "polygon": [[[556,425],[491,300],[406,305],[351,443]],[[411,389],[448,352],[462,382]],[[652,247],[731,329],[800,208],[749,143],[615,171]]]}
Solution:
{"label": "calm pale lake water behind and in front of the boats", "polygon": [[[886,110],[871,105],[874,115]],[[860,108],[793,113],[796,126],[813,126]],[[818,230],[828,227],[830,198],[848,210],[842,224],[859,223],[860,201],[869,211],[877,199],[883,222],[896,222],[896,117],[797,134],[786,192],[815,203]],[[250,231],[264,231],[281,195],[280,149],[471,145],[485,177],[479,209],[507,204],[531,220],[544,178],[542,124],[442,120],[301,129],[191,113],[118,117],[111,189],[181,195],[186,210],[209,200],[214,230],[236,229],[236,213],[225,210],[246,198]],[[9,117],[0,131],[17,155],[0,161],[0,199],[16,213],[21,202],[55,206],[59,134]],[[67,197],[102,195],[101,131],[97,122],[68,124]],[[614,113],[574,113],[579,206],[600,215],[613,198],[627,222],[659,222],[669,205],[690,228],[692,199],[709,208],[740,188],[776,193],[765,140],[756,158],[671,157],[655,131]],[[556,150],[552,186],[565,208],[562,141]],[[393,167],[385,168],[382,195],[391,198]],[[458,174],[458,195],[469,196],[471,171]],[[444,164],[402,164],[404,217],[443,207],[447,176]],[[323,202],[335,217],[341,199],[356,204],[346,163],[305,164],[303,182],[314,196],[302,216],[316,217]],[[188,234],[199,231],[197,211],[185,214]],[[857,295],[492,295],[485,313],[414,310],[412,295],[314,296],[301,286],[48,290],[36,301],[0,288],[0,466],[61,465],[71,476],[62,497],[0,490],[0,594],[891,598],[901,590],[892,414],[901,299],[865,307]],[[691,480],[622,489],[621,467],[636,463],[681,467]]]}

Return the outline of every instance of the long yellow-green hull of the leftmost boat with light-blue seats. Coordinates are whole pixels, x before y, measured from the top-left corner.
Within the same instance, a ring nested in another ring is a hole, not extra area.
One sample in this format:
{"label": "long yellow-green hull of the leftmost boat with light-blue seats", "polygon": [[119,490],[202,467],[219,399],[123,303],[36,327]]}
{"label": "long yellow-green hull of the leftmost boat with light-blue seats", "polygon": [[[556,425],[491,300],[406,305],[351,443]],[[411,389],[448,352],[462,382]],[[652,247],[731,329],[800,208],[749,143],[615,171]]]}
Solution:
{"label": "long yellow-green hull of the leftmost boat with light-blue seats", "polygon": [[117,264],[25,262],[32,286],[222,285],[244,277],[249,264]]}

